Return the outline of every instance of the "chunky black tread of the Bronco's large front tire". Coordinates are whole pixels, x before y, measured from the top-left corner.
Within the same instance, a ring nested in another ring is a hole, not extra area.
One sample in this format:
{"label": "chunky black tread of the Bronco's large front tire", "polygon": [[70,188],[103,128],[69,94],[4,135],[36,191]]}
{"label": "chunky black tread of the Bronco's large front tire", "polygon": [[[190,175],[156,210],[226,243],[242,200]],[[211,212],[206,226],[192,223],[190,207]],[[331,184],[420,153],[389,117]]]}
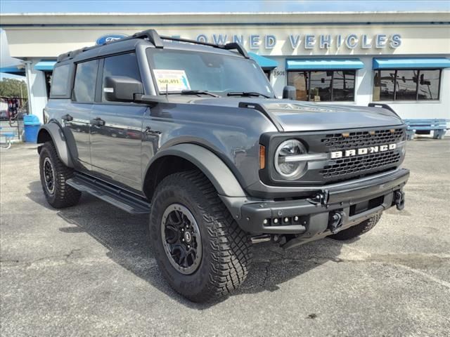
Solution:
{"label": "chunky black tread of the Bronco's large front tire", "polygon": [[[192,188],[192,184],[195,188]],[[240,229],[217,195],[214,186],[202,172],[183,171],[167,176],[158,185],[155,196],[166,188],[173,188],[174,185],[190,190],[207,227],[210,237],[208,244],[212,251],[207,291],[190,299],[205,302],[226,296],[237,289],[248,275],[252,260],[250,239]],[[188,294],[183,295],[189,298]]]}

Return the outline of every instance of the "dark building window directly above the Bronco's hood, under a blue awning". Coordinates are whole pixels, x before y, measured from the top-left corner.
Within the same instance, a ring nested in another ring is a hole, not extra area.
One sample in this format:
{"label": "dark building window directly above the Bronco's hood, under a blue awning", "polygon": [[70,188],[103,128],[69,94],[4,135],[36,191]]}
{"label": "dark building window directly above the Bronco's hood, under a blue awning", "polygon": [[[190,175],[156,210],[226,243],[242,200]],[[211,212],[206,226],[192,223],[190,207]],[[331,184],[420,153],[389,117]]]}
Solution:
{"label": "dark building window directly above the Bronco's hood, under a blue awning", "polygon": [[288,72],[288,85],[297,89],[297,100],[354,101],[356,70]]}

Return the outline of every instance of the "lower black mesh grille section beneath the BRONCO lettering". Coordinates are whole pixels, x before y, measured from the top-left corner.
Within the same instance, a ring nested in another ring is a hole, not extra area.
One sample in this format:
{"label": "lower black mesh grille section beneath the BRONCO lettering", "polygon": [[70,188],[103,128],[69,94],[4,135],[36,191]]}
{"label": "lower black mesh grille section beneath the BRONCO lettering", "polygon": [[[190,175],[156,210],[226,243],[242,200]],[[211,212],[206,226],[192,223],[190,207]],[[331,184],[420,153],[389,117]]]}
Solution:
{"label": "lower black mesh grille section beneath the BRONCO lettering", "polygon": [[354,157],[335,159],[333,164],[326,165],[320,173],[324,178],[335,178],[356,173],[363,175],[366,171],[383,170],[383,167],[395,164],[400,159],[401,154],[399,150],[361,154]]}

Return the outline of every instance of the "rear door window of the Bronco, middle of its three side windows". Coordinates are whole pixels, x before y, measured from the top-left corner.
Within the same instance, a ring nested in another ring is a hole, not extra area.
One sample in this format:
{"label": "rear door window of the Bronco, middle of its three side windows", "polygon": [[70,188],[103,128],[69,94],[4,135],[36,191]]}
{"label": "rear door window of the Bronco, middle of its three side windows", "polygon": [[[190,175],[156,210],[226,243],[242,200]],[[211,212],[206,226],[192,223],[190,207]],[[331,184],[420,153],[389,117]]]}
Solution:
{"label": "rear door window of the Bronco, middle of its three side windows", "polygon": [[77,64],[75,84],[72,91],[72,100],[75,102],[92,103],[96,93],[96,79],[98,60]]}

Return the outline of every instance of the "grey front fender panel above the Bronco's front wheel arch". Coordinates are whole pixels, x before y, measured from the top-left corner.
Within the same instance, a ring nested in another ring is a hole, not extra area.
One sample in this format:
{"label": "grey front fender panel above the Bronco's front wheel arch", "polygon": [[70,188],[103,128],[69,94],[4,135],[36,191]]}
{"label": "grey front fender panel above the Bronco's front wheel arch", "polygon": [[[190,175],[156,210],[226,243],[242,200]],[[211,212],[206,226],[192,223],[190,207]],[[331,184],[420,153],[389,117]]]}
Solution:
{"label": "grey front fender panel above the Bronco's front wheel arch", "polygon": [[151,108],[143,129],[144,176],[158,151],[193,143],[224,161],[243,188],[259,180],[259,136],[276,131],[256,110],[186,103],[160,103]]}

